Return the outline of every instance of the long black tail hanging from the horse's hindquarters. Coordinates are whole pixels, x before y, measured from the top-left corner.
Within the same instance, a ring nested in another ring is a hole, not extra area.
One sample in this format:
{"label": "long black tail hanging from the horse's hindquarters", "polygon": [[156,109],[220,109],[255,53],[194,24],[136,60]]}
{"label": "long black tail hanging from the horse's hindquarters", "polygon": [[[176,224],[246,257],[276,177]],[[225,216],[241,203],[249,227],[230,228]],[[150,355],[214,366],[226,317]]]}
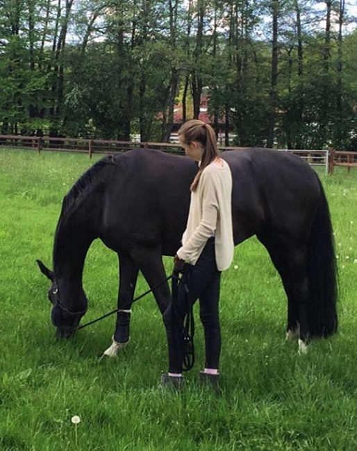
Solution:
{"label": "long black tail hanging from the horse's hindquarters", "polygon": [[308,241],[308,323],[311,337],[329,337],[338,330],[338,280],[329,204],[319,185],[321,198]]}

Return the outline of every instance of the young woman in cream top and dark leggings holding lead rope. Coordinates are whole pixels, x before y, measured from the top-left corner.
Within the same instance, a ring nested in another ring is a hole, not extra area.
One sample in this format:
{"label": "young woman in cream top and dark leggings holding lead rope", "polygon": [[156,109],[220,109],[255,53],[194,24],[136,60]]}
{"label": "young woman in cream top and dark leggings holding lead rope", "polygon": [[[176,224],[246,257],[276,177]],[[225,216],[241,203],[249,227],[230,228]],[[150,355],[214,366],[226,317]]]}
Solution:
{"label": "young woman in cream top and dark leggings holding lead rope", "polygon": [[218,386],[221,350],[219,327],[219,284],[221,271],[233,259],[231,215],[232,176],[229,165],[219,158],[215,132],[203,121],[185,122],[178,139],[186,155],[199,162],[191,185],[188,223],[182,246],[174,257],[174,271],[183,272],[177,296],[163,315],[169,349],[169,372],[163,386],[183,384],[183,321],[190,306],[199,299],[199,316],[204,326],[206,364],[202,380]]}

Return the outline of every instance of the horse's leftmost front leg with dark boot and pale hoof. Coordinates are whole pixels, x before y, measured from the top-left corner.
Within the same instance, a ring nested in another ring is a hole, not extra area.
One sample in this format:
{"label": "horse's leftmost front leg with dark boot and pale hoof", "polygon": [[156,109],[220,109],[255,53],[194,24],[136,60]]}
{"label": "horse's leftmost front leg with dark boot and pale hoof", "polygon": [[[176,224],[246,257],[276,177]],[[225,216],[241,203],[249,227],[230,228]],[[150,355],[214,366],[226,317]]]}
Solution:
{"label": "horse's leftmost front leg with dark boot and pale hoof", "polygon": [[119,256],[119,294],[117,303],[117,321],[113,342],[103,353],[103,356],[117,357],[119,349],[124,348],[129,341],[131,305],[133,303],[138,267],[128,253],[121,252]]}

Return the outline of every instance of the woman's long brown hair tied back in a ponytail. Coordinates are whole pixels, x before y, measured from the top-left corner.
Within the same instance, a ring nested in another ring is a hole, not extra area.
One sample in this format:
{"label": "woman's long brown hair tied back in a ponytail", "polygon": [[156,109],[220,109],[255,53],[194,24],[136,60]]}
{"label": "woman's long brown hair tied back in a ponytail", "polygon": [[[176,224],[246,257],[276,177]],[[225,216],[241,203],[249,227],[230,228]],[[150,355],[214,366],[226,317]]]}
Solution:
{"label": "woman's long brown hair tied back in a ponytail", "polygon": [[178,137],[183,144],[190,145],[193,141],[196,141],[204,147],[201,166],[191,185],[191,191],[194,191],[197,188],[197,184],[205,167],[219,156],[215,130],[204,121],[192,119],[181,126],[180,130],[178,130]]}

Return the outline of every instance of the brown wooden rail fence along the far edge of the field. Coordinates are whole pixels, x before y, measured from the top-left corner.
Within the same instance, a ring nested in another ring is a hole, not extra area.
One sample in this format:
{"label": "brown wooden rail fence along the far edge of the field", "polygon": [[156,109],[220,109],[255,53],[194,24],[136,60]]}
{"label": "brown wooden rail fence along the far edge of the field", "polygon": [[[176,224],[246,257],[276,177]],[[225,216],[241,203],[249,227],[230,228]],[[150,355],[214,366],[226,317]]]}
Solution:
{"label": "brown wooden rail fence along the far edge of the field", "polygon": [[[19,135],[0,135],[0,146],[25,148],[38,151],[61,151],[87,153],[90,158],[94,153],[113,154],[126,152],[130,148],[156,148],[178,155],[183,155],[183,149],[179,144],[158,143],[158,142],[138,142],[138,141],[112,141],[108,139],[83,139],[83,138],[60,138],[60,137],[37,137]],[[242,150],[246,147],[223,147],[220,150]],[[357,152],[334,151],[334,150],[290,150],[279,149],[291,152],[303,158],[311,166],[324,167],[326,174],[333,173],[335,166],[357,168]]]}

